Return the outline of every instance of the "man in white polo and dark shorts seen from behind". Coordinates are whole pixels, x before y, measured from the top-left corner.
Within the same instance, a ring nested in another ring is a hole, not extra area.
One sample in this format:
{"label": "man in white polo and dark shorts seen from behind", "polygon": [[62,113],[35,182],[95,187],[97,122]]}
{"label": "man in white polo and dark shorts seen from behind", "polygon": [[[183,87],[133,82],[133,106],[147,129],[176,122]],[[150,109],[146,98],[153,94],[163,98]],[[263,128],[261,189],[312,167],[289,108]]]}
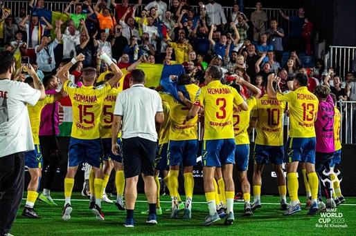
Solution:
{"label": "man in white polo and dark shorts seen from behind", "polygon": [[142,174],[150,213],[148,224],[157,224],[157,185],[154,181],[154,159],[157,148],[155,122],[162,123],[161,97],[155,90],[145,88],[143,70],[132,70],[130,89],[121,92],[114,109],[112,124],[112,153],[118,155],[117,137],[121,129],[123,162],[125,163],[126,227],[134,227],[134,206],[137,197],[137,181]]}

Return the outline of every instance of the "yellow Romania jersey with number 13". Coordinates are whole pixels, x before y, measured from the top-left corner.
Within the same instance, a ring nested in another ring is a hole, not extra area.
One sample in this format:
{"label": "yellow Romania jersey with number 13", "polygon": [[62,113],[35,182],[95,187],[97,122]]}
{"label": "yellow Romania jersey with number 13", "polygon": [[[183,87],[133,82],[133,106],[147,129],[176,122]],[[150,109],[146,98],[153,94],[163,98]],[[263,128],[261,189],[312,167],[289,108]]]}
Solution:
{"label": "yellow Romania jersey with number 13", "polygon": [[277,93],[278,101],[287,101],[290,111],[290,137],[315,137],[319,100],[303,86],[288,93]]}

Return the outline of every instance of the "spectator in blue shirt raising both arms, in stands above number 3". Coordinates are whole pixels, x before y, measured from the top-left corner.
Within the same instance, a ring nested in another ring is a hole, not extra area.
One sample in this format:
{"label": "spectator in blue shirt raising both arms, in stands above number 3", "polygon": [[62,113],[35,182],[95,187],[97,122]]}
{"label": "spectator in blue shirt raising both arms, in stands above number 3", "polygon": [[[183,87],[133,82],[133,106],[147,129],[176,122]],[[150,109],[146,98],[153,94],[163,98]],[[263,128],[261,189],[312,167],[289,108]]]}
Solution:
{"label": "spectator in blue shirt raising both arms, in stands above number 3", "polygon": [[[217,29],[217,27],[215,25],[211,26],[211,30],[209,33],[209,42],[211,43],[211,46],[213,46],[215,54],[220,55],[221,58],[223,58],[225,56],[225,50],[228,46],[229,46],[229,51],[231,53],[233,48],[235,48],[235,45],[237,45],[238,41],[240,40],[240,35],[238,34],[238,28],[236,28],[235,23],[231,22],[230,26],[231,26],[231,28],[233,28],[233,30],[235,32],[235,39],[234,39],[233,43],[231,43],[231,45],[227,44],[228,39],[227,39],[226,35],[221,35],[220,41],[218,43],[215,43],[215,41],[213,40],[213,32],[214,32],[214,30]],[[229,37],[229,39],[231,39],[231,37]]]}

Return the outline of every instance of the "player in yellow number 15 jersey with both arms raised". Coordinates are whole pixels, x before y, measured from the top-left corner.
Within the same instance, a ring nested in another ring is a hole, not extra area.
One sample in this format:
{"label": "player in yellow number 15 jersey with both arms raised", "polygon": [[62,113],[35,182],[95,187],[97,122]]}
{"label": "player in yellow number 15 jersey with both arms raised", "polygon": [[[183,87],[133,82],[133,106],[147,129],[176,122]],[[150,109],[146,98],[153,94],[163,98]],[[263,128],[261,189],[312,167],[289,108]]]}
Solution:
{"label": "player in yellow number 15 jersey with both arms raised", "polygon": [[115,76],[109,79],[107,83],[94,87],[96,79],[96,70],[94,68],[85,68],[82,74],[83,86],[78,87],[69,80],[68,71],[78,61],[83,61],[84,55],[80,54],[73,58],[58,72],[64,91],[68,93],[73,107],[73,126],[71,130],[71,141],[69,143],[69,159],[66,178],[64,179],[64,210],[62,219],[64,221],[71,219],[71,193],[74,186],[75,173],[78,165],[87,162],[94,168],[94,194],[95,204],[90,206],[91,211],[96,215],[96,219],[104,220],[104,214],[101,210],[101,198],[103,197],[103,170],[101,166],[101,157],[103,148],[100,142],[100,113],[103,110],[103,102],[109,90],[116,86],[123,73],[114,62],[105,53],[100,52],[100,59],[103,59],[110,65]]}

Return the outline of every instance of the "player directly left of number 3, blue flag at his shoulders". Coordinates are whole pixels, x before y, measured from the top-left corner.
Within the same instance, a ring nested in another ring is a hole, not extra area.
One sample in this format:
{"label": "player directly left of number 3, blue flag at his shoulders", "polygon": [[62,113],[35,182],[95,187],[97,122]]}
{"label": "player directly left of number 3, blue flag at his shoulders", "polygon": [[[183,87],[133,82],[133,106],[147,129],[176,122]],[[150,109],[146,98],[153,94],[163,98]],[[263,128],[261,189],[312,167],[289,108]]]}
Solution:
{"label": "player directly left of number 3, blue flag at his shoulders", "polygon": [[[186,91],[193,97],[197,94],[199,87],[194,83],[190,84],[189,75],[175,76],[178,79],[178,86],[185,86]],[[186,98],[183,99],[183,102]],[[184,219],[191,218],[191,208],[194,189],[193,166],[197,164],[198,137],[197,137],[197,117],[186,121],[189,108],[181,104],[171,95],[164,96],[163,101],[170,106],[170,134],[168,144],[168,160],[170,171],[168,175],[168,185],[172,199],[172,214],[170,218],[177,219],[179,213],[178,204],[178,175],[180,165],[184,166],[184,190],[186,192],[186,204],[184,205]]]}

